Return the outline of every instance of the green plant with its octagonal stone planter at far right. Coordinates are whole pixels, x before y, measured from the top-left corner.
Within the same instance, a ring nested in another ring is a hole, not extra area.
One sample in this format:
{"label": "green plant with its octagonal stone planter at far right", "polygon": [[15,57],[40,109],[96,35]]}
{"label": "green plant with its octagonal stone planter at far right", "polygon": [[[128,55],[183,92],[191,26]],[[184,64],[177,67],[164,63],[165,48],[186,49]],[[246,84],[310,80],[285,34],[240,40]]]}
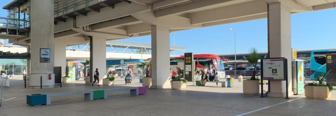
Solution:
{"label": "green plant with its octagonal stone planter at far right", "polygon": [[[309,99],[326,100],[331,97],[331,92],[334,90],[330,84],[325,84],[324,79],[329,75],[329,70],[326,74],[322,72],[320,77],[316,77],[315,82],[304,85],[304,96]],[[319,83],[316,83],[319,82]]]}

